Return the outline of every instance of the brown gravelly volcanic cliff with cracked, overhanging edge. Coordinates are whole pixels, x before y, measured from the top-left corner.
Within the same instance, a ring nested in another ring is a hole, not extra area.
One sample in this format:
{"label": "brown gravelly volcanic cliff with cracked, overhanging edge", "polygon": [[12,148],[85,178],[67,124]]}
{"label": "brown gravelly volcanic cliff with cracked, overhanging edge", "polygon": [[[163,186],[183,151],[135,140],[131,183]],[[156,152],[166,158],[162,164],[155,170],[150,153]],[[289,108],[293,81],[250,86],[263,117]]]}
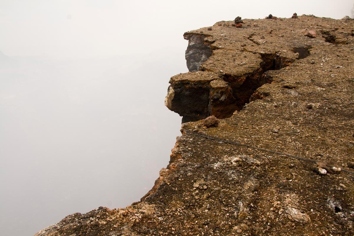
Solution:
{"label": "brown gravelly volcanic cliff with cracked, overhanging edge", "polygon": [[354,235],[354,20],[243,22],[184,34],[190,72],[171,78],[166,105],[187,123],[152,190],[36,236]]}

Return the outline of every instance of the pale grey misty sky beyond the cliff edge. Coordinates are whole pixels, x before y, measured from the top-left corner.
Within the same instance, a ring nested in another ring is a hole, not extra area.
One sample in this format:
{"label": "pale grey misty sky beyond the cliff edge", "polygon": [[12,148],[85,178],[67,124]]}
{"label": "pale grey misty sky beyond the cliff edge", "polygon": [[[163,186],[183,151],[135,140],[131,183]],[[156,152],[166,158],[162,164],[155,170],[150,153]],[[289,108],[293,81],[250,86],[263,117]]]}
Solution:
{"label": "pale grey misty sky beyond the cliff edge", "polygon": [[68,214],[139,200],[169,162],[187,72],[183,33],[221,20],[313,14],[343,1],[0,0],[0,229],[33,235]]}

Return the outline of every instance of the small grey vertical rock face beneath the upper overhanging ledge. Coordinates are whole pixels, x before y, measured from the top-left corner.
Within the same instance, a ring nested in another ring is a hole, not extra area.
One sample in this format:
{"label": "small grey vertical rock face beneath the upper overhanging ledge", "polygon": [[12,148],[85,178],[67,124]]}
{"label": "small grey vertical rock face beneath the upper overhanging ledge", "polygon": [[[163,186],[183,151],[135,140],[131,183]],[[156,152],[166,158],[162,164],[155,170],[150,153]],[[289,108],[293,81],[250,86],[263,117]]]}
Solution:
{"label": "small grey vertical rock face beneath the upper overhanging ledge", "polygon": [[210,46],[204,42],[206,35],[192,34],[185,35],[188,40],[188,47],[185,50],[185,59],[187,60],[187,68],[189,71],[197,71],[200,69],[201,63],[205,62],[212,54]]}

